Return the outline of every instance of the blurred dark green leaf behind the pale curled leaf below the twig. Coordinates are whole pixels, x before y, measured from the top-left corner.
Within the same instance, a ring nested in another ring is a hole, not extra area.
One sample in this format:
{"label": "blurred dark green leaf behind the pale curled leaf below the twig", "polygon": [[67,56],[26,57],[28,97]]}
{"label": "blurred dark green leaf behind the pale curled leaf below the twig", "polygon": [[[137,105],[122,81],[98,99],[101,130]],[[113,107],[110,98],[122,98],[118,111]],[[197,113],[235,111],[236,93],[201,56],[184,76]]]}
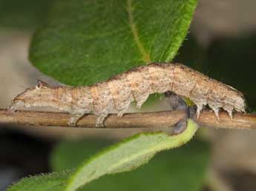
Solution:
{"label": "blurred dark green leaf behind the pale curled leaf below the twig", "polygon": [[[54,150],[53,170],[62,171],[78,167],[85,158],[102,150],[110,141],[64,141]],[[79,191],[199,191],[209,164],[209,144],[191,141],[177,150],[158,154],[149,164],[138,170],[107,175],[92,181]]]}

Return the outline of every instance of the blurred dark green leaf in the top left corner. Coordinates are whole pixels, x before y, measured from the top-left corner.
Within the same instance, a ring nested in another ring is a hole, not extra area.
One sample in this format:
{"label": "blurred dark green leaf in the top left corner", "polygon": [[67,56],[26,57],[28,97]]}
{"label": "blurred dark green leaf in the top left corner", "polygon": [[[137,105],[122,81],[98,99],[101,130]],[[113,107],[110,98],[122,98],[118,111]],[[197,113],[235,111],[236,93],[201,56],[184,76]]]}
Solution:
{"label": "blurred dark green leaf in the top left corner", "polygon": [[44,23],[53,0],[0,0],[0,27],[34,29]]}

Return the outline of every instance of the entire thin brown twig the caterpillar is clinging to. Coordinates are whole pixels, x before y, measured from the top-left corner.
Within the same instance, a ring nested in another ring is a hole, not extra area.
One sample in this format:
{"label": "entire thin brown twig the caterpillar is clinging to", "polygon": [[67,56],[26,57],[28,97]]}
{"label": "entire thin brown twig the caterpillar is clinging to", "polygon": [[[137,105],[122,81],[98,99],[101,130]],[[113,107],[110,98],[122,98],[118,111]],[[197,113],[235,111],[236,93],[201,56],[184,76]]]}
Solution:
{"label": "entire thin brown twig the caterpillar is clinging to", "polygon": [[[122,118],[111,114],[105,120],[105,127],[103,128],[171,127],[177,124],[185,115],[185,110],[154,113],[126,113]],[[7,110],[0,109],[0,124],[70,127],[70,125],[68,125],[69,118],[70,115],[68,113],[39,111],[7,113]],[[233,120],[231,120],[226,112],[221,112],[220,121],[217,121],[214,113],[205,110],[200,114],[200,118],[197,119],[194,117],[193,119],[200,124],[200,127],[256,130],[256,115],[254,114],[235,113]],[[77,127],[94,128],[95,120],[95,115],[85,115],[79,120]]]}

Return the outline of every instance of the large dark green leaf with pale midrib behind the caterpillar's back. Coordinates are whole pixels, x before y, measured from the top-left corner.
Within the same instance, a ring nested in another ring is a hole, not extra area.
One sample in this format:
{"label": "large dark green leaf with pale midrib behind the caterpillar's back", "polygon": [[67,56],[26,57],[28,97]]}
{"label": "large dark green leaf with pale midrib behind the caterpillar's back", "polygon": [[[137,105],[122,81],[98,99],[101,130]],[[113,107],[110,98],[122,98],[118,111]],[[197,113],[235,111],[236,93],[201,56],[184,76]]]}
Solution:
{"label": "large dark green leaf with pale midrib behind the caterpillar's back", "polygon": [[151,61],[171,61],[197,0],[62,0],[33,36],[30,60],[65,84],[89,85]]}

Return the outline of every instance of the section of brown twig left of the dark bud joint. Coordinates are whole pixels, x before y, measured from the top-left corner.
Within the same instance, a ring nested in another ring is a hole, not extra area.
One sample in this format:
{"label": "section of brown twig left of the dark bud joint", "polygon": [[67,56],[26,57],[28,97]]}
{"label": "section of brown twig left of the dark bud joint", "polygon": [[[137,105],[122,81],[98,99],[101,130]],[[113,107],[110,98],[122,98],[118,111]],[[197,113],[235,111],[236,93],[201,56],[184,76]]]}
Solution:
{"label": "section of brown twig left of the dark bud joint", "polygon": [[[103,128],[168,127],[177,124],[184,116],[183,110],[161,113],[127,113],[122,118],[110,114]],[[69,127],[69,118],[68,113],[17,111],[9,114],[6,110],[0,110],[0,124]],[[95,115],[85,115],[78,121],[77,127],[93,128],[95,120]]]}

